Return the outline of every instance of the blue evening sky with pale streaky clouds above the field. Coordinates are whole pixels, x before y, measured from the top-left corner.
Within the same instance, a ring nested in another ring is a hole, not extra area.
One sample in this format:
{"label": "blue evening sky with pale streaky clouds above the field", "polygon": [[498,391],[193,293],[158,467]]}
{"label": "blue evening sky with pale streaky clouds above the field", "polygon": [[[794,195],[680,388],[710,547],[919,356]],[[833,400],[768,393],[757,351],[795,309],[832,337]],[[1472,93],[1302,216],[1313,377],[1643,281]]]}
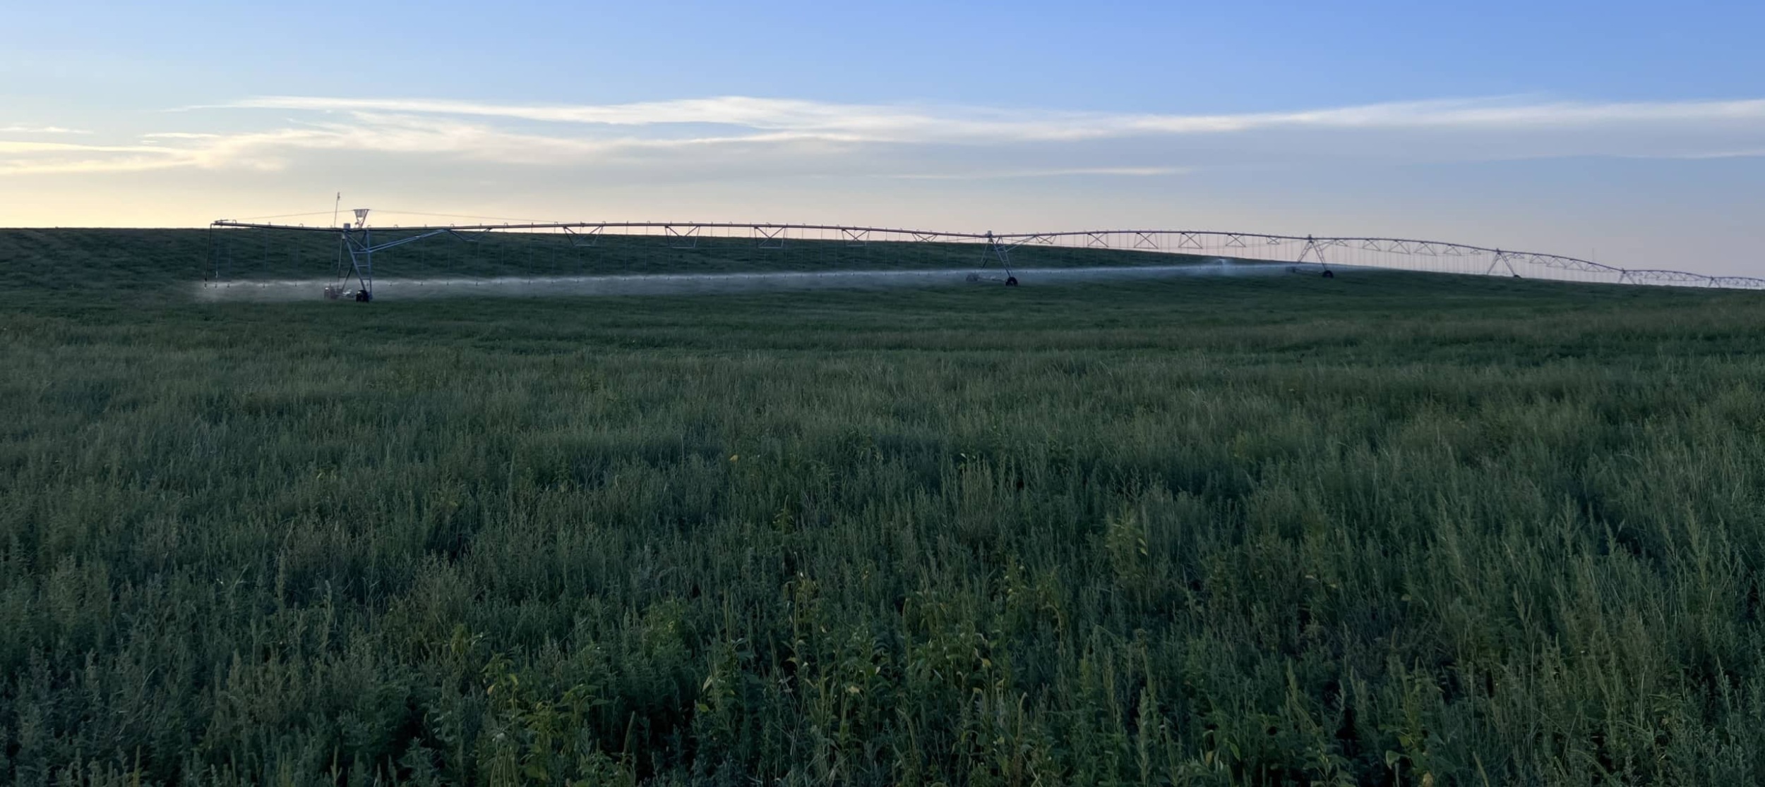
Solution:
{"label": "blue evening sky with pale streaky clouds above the field", "polygon": [[14,4],[0,226],[1382,235],[1765,275],[1765,2]]}

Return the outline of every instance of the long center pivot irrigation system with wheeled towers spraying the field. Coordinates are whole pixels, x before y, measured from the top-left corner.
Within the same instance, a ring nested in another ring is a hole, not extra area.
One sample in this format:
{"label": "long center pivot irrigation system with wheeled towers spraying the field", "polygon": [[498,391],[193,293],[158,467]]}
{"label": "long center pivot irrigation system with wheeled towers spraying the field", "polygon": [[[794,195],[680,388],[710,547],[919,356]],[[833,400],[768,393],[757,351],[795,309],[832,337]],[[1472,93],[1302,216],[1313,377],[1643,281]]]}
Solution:
{"label": "long center pivot irrigation system with wheeled towers spraying the field", "polygon": [[[898,263],[913,251],[939,249],[944,265],[976,261],[971,282],[1018,284],[1022,263],[1063,268],[1123,265],[1119,256],[1098,258],[1093,251],[1151,252],[1138,265],[1167,265],[1168,256],[1202,261],[1285,263],[1296,274],[1334,277],[1336,268],[1386,268],[1438,274],[1502,275],[1525,279],[1581,281],[1606,284],[1663,284],[1698,288],[1765,289],[1765,279],[1703,275],[1661,268],[1619,268],[1560,254],[1523,252],[1467,244],[1412,238],[1347,238],[1313,235],[1228,233],[1211,229],[1093,229],[1061,233],[951,233],[927,229],[863,228],[838,224],[734,224],[734,222],[503,222],[422,224],[371,228],[367,208],[355,210],[355,222],[342,228],[215,221],[208,228],[208,284],[233,286],[263,281],[284,254],[297,261],[319,258],[302,252],[311,240],[335,236],[334,282],[327,298],[374,300],[374,256],[436,238],[441,247],[418,251],[427,270],[469,275],[471,261],[494,261],[499,277],[531,277],[542,272],[586,274],[597,256],[616,249],[667,249],[672,254],[717,254],[738,263],[761,265],[787,249],[808,251],[815,263],[861,263],[867,249],[888,249]],[[261,238],[258,238],[261,235]],[[272,240],[279,238],[281,244]],[[288,252],[286,249],[295,249]],[[960,249],[969,249],[965,254]],[[406,249],[401,254],[408,254]],[[978,254],[976,254],[978,252]],[[307,254],[307,256],[302,256]],[[524,254],[524,258],[522,258]],[[955,254],[955,256],[953,256]],[[976,254],[976,256],[967,256]],[[1205,259],[1211,258],[1211,259]],[[399,259],[406,259],[401,256]],[[805,259],[801,256],[794,259]],[[434,261],[434,265],[429,265]],[[538,261],[549,261],[540,265]],[[560,266],[560,261],[563,265]],[[1017,261],[1017,265],[1015,265]],[[254,265],[256,263],[256,265]],[[455,263],[454,266],[448,266]],[[844,265],[842,265],[844,266]],[[281,270],[288,270],[282,266]],[[600,268],[604,272],[604,268]]]}

